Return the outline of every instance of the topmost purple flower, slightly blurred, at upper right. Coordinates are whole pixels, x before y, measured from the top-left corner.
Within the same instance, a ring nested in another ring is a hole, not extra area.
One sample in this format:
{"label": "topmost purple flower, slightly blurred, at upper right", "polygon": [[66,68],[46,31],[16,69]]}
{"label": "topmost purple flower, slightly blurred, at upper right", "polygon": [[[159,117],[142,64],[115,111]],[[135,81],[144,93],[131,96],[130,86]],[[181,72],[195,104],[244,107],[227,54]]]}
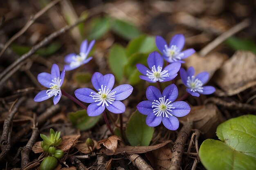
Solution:
{"label": "topmost purple flower, slightly blurred, at upper right", "polygon": [[194,49],[186,49],[185,51],[181,51],[183,49],[183,46],[185,44],[185,38],[182,34],[176,34],[173,36],[173,38],[170,41],[169,46],[167,45],[164,38],[157,36],[155,38],[155,43],[157,45],[157,48],[161,53],[163,54],[164,59],[167,62],[181,62],[182,59],[189,57],[193,53],[195,53]]}

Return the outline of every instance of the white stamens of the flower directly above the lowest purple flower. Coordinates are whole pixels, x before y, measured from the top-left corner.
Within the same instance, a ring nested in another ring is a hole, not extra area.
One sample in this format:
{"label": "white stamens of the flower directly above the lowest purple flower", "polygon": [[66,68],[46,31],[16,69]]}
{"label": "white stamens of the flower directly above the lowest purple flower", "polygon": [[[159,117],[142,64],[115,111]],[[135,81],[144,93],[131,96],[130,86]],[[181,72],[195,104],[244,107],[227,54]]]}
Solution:
{"label": "white stamens of the flower directly above the lowest purple flower", "polygon": [[168,73],[168,70],[164,70],[162,71],[162,67],[160,66],[157,66],[157,69],[155,68],[155,65],[152,67],[152,70],[151,72],[147,70],[147,76],[148,78],[151,79],[151,81],[159,81],[159,82],[162,82],[164,81],[164,79],[166,79],[167,77],[169,77],[169,73]]}

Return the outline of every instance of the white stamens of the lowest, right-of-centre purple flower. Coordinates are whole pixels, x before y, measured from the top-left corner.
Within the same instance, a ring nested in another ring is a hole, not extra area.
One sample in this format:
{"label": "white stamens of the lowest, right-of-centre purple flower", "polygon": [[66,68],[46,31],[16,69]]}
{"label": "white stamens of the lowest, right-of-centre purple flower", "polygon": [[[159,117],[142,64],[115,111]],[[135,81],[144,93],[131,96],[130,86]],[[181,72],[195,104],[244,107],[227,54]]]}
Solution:
{"label": "white stamens of the lowest, right-of-centre purple flower", "polygon": [[170,112],[173,112],[173,110],[171,109],[175,109],[175,107],[172,107],[173,104],[171,104],[171,101],[168,102],[169,99],[165,100],[165,96],[164,97],[160,97],[159,101],[158,100],[154,100],[154,102],[152,103],[152,108],[153,109],[153,113],[155,113],[156,117],[162,116],[163,117],[169,117],[173,116]]}

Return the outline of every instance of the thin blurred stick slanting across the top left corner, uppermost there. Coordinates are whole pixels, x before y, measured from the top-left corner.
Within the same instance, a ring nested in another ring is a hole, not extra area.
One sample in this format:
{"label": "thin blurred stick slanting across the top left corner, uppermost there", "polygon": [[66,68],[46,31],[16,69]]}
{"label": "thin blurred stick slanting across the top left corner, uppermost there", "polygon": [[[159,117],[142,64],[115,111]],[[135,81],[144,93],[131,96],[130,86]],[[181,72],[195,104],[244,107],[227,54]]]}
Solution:
{"label": "thin blurred stick slanting across the top left corner, uppermost there", "polygon": [[7,41],[7,43],[4,45],[4,48],[2,49],[1,53],[0,53],[0,57],[2,56],[2,54],[4,53],[4,51],[8,48],[8,46],[17,38],[20,37],[20,35],[22,35],[23,33],[25,33],[25,31],[27,31],[27,29],[29,29],[29,27],[35,22],[35,20],[37,18],[39,18],[41,15],[43,15],[46,11],[48,11],[48,9],[52,8],[56,3],[60,2],[61,0],[54,0],[52,2],[50,2],[49,4],[47,4],[43,9],[41,9],[40,11],[38,11],[38,13],[36,13],[34,16],[32,15],[30,17],[30,19],[28,20],[28,22],[25,24],[25,26],[15,35],[13,35],[10,40]]}

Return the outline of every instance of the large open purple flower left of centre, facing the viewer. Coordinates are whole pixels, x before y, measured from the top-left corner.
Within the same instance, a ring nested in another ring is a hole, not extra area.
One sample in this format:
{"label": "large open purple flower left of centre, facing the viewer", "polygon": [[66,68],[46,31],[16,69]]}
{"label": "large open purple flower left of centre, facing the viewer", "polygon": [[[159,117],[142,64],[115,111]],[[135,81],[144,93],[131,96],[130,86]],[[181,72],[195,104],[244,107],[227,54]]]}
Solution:
{"label": "large open purple flower left of centre, facing the viewer", "polygon": [[130,96],[133,88],[129,84],[122,84],[112,89],[114,83],[114,75],[96,72],[92,75],[92,85],[98,92],[90,88],[79,88],[74,92],[82,102],[91,103],[87,108],[88,116],[98,116],[105,108],[112,113],[124,113],[125,106],[120,100]]}

